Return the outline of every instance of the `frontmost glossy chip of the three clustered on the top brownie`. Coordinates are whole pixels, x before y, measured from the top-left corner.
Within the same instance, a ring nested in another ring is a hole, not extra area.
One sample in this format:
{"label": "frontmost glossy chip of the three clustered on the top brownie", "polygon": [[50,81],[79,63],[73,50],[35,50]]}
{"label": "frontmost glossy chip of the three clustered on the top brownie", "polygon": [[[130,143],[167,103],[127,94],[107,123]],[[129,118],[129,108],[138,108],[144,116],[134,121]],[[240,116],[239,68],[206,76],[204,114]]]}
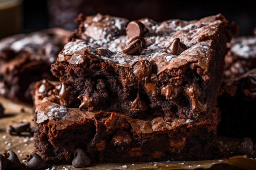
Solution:
{"label": "frontmost glossy chip of the three clustered on the top brownie", "polygon": [[137,54],[141,55],[142,42],[140,39],[136,39],[128,44],[122,51],[125,54]]}

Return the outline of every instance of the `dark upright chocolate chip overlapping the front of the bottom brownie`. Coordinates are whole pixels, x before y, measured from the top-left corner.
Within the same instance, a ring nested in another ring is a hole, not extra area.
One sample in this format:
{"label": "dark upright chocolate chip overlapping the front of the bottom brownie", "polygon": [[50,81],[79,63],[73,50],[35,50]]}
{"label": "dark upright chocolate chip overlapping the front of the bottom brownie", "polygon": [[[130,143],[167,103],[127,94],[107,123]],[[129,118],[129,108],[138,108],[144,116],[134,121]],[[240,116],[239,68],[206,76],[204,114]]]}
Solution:
{"label": "dark upright chocolate chip overlapping the front of the bottom brownie", "polygon": [[84,168],[90,165],[90,159],[86,156],[84,151],[80,148],[75,149],[74,159],[72,160],[72,166],[75,168]]}

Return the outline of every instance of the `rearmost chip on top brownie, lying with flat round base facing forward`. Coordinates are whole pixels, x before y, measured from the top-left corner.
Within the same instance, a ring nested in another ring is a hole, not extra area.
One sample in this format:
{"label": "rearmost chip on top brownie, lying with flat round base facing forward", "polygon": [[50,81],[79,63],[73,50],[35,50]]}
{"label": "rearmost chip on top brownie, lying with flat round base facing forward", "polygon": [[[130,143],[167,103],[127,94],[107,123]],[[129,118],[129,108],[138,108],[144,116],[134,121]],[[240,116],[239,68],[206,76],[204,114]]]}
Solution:
{"label": "rearmost chip on top brownie, lying with flat round base facing forward", "polygon": [[143,36],[147,32],[148,30],[145,28],[144,24],[138,20],[129,22],[126,27],[128,37]]}

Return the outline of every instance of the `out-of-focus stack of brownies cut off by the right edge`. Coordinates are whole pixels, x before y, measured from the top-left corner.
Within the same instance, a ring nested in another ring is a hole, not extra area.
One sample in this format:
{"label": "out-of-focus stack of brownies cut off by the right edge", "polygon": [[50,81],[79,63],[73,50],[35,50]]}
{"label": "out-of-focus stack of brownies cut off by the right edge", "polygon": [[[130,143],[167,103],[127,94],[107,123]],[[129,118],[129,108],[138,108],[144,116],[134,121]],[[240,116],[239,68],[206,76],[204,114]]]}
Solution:
{"label": "out-of-focus stack of brownies cut off by the right edge", "polygon": [[237,37],[225,57],[218,134],[256,141],[256,37]]}

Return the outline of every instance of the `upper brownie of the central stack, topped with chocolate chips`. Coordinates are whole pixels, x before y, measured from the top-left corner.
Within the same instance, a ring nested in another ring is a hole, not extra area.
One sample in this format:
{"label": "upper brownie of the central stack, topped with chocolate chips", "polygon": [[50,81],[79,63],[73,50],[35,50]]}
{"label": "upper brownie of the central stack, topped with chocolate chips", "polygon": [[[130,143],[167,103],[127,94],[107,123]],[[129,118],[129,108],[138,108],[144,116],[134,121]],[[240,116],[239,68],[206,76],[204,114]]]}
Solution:
{"label": "upper brownie of the central stack, topped with chocolate chips", "polygon": [[62,82],[62,105],[166,121],[200,119],[216,107],[226,43],[237,32],[221,14],[129,24],[100,14],[77,20],[51,69]]}

